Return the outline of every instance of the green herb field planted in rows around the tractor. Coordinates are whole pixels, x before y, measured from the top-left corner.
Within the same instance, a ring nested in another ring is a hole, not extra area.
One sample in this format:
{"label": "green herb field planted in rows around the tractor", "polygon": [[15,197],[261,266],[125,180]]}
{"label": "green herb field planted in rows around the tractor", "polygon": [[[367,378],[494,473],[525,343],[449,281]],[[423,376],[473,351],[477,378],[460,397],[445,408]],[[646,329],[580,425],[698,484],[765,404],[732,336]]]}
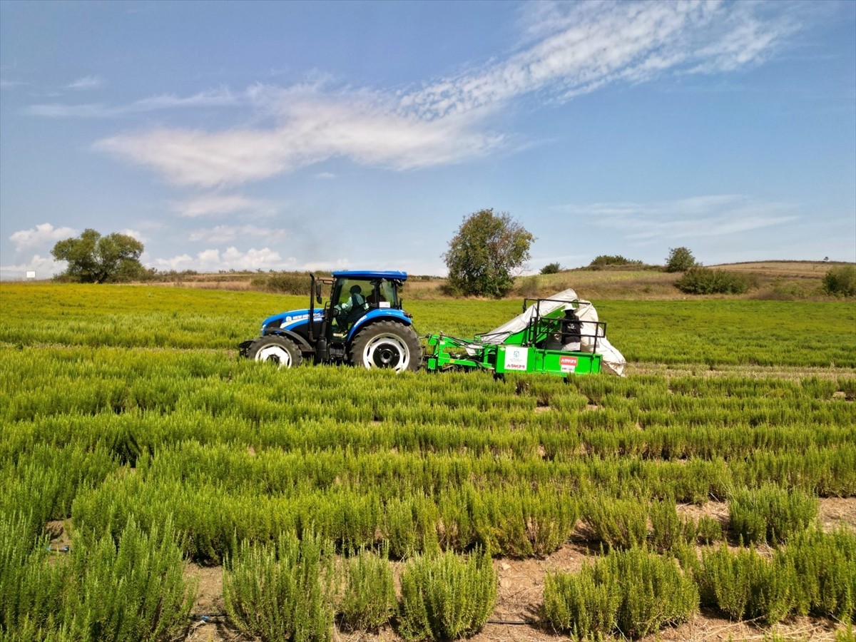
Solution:
{"label": "green herb field planted in rows around the tractor", "polygon": [[[208,639],[191,564],[244,639],[687,639],[702,612],[847,639],[856,535],[821,507],[856,497],[853,304],[595,301],[630,374],[567,384],[239,360],[307,299],[0,287],[0,639]],[[405,307],[472,336],[520,301]]]}

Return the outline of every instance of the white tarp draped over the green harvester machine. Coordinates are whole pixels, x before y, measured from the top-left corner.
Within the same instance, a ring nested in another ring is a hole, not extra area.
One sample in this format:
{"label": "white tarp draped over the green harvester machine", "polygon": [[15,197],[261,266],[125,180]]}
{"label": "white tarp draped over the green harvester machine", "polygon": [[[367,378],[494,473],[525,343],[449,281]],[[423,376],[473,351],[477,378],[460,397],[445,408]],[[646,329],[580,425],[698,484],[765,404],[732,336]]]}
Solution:
{"label": "white tarp draped over the green harvester machine", "polygon": [[571,288],[562,290],[562,292],[553,294],[547,298],[550,300],[541,301],[538,309],[536,309],[536,304],[533,303],[532,306],[526,308],[526,311],[518,314],[507,323],[500,325],[494,330],[490,330],[490,332],[485,332],[480,337],[481,342],[492,344],[502,343],[515,332],[520,332],[520,330],[526,328],[536,312],[539,312],[543,317],[545,314],[550,314],[550,312],[554,312],[560,307],[571,306],[570,304],[573,303],[574,306],[571,307],[574,307],[577,318],[582,321],[580,330],[583,336],[580,341],[580,349],[583,352],[594,352],[595,335],[597,334],[597,354],[600,354],[602,357],[601,367],[603,371],[623,377],[624,366],[627,364],[627,360],[624,359],[615,346],[609,343],[609,339],[603,336],[603,329],[598,329],[595,323],[597,322],[597,310],[591,305],[591,301],[580,300],[577,297],[577,293]]}

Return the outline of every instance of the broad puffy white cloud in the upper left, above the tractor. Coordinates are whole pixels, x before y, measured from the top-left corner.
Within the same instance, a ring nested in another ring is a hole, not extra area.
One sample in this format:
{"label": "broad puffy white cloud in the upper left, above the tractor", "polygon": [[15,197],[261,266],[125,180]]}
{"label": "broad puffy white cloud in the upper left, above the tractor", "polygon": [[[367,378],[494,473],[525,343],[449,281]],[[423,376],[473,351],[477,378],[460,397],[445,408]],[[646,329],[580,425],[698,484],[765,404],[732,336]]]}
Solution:
{"label": "broad puffy white cloud in the upper left, above the tractor", "polygon": [[282,124],[213,134],[163,128],[120,134],[99,141],[96,149],[156,169],[179,185],[216,187],[259,181],[333,157],[400,170],[455,163],[502,142],[502,136],[477,131],[484,113],[427,121],[396,113],[394,104],[369,92],[256,86],[253,100]]}

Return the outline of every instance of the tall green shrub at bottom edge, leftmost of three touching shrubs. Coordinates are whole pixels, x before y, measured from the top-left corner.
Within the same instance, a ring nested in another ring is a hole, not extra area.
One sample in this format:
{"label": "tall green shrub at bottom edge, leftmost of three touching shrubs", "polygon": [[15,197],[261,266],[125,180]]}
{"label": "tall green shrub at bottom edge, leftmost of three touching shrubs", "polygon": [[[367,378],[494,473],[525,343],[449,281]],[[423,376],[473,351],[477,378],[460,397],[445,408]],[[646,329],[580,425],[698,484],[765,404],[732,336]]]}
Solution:
{"label": "tall green shrub at bottom edge, leftmost of three touching shrubs", "polygon": [[333,567],[322,538],[284,533],[276,545],[241,543],[223,573],[229,620],[262,640],[330,640],[333,631]]}

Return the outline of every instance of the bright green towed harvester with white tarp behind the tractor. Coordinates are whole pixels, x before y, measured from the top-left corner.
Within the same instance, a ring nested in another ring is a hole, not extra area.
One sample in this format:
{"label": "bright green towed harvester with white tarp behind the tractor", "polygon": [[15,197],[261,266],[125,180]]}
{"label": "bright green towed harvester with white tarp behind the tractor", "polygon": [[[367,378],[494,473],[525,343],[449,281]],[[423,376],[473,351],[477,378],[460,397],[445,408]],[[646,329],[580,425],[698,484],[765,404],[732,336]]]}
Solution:
{"label": "bright green towed harvester with white tarp behind the tractor", "polygon": [[495,377],[534,372],[567,379],[601,372],[602,366],[621,375],[624,366],[606,339],[606,324],[573,290],[551,299],[525,299],[522,314],[473,339],[443,333],[426,338],[425,368],[435,372],[484,370]]}

